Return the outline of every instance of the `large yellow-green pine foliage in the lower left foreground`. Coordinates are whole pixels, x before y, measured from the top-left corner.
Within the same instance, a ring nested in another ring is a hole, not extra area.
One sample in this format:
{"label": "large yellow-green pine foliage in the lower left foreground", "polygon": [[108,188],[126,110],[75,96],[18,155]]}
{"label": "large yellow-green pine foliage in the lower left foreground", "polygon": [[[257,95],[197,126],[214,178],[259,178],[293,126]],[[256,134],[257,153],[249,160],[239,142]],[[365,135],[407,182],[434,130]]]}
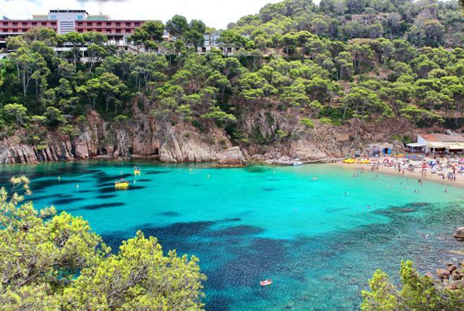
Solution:
{"label": "large yellow-green pine foliage in the lower left foreground", "polygon": [[26,177],[0,189],[4,310],[200,310],[198,259],[138,231],[117,253],[82,217],[34,210]]}

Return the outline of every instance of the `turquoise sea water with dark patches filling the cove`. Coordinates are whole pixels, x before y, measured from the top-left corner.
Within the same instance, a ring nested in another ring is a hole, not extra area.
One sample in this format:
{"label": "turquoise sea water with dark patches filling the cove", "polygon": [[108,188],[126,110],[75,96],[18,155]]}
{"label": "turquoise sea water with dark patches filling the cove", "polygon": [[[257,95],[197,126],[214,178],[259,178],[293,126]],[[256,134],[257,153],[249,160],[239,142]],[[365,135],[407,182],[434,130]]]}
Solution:
{"label": "turquoise sea water with dark patches filling the cove", "polygon": [[[448,250],[459,248],[463,189],[330,165],[136,165],[140,177],[134,163],[0,166],[0,183],[26,174],[36,208],[83,216],[113,249],[142,229],[197,255],[207,310],[356,310],[377,268],[460,259]],[[121,176],[128,191],[114,189]]]}

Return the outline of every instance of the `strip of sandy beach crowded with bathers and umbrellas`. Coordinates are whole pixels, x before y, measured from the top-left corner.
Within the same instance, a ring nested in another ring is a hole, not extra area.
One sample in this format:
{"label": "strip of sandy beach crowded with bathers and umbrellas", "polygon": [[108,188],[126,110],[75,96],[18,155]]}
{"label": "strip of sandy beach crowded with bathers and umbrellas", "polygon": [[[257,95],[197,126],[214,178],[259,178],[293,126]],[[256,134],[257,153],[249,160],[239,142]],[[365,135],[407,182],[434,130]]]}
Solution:
{"label": "strip of sandy beach crowded with bathers and umbrellas", "polygon": [[[381,161],[383,159],[384,158],[379,159],[380,163],[381,163]],[[393,159],[393,158],[389,158],[389,159]],[[370,171],[370,164],[361,164],[361,163],[346,164],[346,163],[342,163],[342,162],[337,162],[337,163],[330,163],[330,165],[336,165],[337,167],[344,167],[344,168],[352,169],[352,170],[353,169],[354,170],[361,170],[361,167],[363,167],[363,169],[366,172]],[[422,180],[427,180],[429,182],[438,182],[439,184],[446,184],[446,185],[449,185],[449,186],[457,186],[457,187],[460,187],[460,188],[464,188],[464,176],[462,176],[460,174],[456,174],[456,180],[450,181],[450,180],[448,180],[446,178],[442,179],[442,177],[438,176],[437,174],[431,174],[430,172],[427,172],[425,177],[421,176],[420,171],[411,172],[411,171],[405,170],[404,174],[402,174],[402,173],[399,173],[397,170],[395,170],[394,167],[386,167],[384,165],[379,165],[378,170],[373,170],[372,172],[379,172],[379,173],[382,173],[382,174],[391,174],[391,175],[395,175],[395,176],[401,176],[402,175],[404,177],[409,177],[409,178],[414,178],[414,179],[422,179]],[[446,172],[445,172],[445,174],[446,174]]]}

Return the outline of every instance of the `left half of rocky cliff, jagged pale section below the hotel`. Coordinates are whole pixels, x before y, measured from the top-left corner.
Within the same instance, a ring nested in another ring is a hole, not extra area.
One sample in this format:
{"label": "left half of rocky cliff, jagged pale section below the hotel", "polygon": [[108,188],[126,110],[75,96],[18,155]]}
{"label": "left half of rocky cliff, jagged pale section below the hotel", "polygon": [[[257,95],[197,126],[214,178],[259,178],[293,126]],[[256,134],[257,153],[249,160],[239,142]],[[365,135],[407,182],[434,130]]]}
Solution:
{"label": "left half of rocky cliff, jagged pale section below the hotel", "polygon": [[0,163],[40,163],[89,158],[153,158],[162,162],[216,162],[231,142],[221,129],[205,132],[190,122],[157,123],[147,113],[136,111],[131,121],[106,122],[91,112],[77,124],[79,134],[69,137],[59,130],[49,132],[46,147],[25,144],[17,132],[0,141]]}

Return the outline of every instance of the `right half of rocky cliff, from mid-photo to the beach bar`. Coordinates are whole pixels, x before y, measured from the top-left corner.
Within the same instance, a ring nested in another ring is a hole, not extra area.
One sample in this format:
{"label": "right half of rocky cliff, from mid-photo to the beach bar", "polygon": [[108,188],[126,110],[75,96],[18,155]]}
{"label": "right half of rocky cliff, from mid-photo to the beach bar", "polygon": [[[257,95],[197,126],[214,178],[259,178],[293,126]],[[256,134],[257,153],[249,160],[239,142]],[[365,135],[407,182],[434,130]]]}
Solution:
{"label": "right half of rocky cliff, from mid-photo to the beach bar", "polygon": [[[241,120],[241,129],[248,141],[241,147],[248,158],[265,163],[285,164],[298,158],[305,163],[324,162],[343,158],[354,151],[368,153],[368,144],[389,142],[396,151],[402,145],[392,136],[398,132],[396,120],[369,124],[352,121],[347,125],[333,126],[315,120],[309,128],[299,123],[301,115],[291,110],[255,110]],[[359,122],[359,121],[358,121]],[[402,134],[415,137],[415,129],[404,127]]]}

